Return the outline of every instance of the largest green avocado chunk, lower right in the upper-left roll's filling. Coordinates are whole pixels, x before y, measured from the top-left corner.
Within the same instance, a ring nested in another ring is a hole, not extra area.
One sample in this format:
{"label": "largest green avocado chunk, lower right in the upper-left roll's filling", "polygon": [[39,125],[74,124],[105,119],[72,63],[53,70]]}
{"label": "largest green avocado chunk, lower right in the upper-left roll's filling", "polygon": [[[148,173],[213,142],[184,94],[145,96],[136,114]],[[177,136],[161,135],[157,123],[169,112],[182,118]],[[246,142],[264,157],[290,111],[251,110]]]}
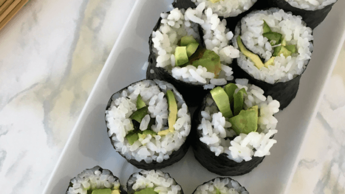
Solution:
{"label": "largest green avocado chunk, lower right in the upper-left roll's filling", "polygon": [[220,57],[213,50],[205,50],[203,57],[193,61],[192,65],[194,67],[203,66],[206,67],[208,72],[212,72],[215,78],[218,77],[221,68]]}

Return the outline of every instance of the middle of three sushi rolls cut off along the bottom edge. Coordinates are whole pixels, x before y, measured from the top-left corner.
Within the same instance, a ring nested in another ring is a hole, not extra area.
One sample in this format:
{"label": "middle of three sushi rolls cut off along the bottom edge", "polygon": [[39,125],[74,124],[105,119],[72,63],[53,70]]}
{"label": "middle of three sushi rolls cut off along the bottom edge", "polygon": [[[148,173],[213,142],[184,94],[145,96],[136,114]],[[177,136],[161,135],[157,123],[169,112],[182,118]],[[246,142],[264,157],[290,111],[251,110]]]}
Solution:
{"label": "middle of three sushi rolls cut off along the bottom edge", "polygon": [[128,194],[183,194],[181,186],[168,173],[159,170],[132,174],[127,181]]}

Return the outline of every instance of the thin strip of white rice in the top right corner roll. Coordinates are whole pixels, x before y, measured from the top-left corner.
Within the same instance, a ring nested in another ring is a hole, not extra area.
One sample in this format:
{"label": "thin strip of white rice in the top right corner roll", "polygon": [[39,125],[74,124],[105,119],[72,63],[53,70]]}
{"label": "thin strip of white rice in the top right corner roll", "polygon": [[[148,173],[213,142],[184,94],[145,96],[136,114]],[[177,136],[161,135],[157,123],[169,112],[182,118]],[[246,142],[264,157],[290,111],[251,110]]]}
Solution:
{"label": "thin strip of white rice in the top right corner roll", "polygon": [[291,6],[304,10],[319,10],[335,3],[337,0],[285,0]]}

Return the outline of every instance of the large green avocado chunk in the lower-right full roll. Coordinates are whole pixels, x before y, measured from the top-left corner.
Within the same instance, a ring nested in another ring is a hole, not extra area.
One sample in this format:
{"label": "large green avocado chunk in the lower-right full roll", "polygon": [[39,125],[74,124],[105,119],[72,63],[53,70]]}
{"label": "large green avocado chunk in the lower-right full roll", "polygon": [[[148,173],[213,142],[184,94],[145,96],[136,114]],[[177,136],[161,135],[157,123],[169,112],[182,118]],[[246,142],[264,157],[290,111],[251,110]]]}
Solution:
{"label": "large green avocado chunk in the lower-right full roll", "polygon": [[241,110],[240,114],[229,119],[232,128],[236,134],[245,133],[248,134],[257,130],[257,118],[258,110],[257,106],[248,108],[247,110]]}

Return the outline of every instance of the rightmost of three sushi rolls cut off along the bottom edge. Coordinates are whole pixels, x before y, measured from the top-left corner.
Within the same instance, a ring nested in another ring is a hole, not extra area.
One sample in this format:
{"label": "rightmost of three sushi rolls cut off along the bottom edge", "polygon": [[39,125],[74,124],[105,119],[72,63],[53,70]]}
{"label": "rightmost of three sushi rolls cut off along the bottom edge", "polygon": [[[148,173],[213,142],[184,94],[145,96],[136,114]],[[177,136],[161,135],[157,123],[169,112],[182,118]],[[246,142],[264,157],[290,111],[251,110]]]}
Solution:
{"label": "rightmost of three sushi rolls cut off along the bottom edge", "polygon": [[249,194],[249,192],[229,177],[217,177],[196,187],[192,194]]}

